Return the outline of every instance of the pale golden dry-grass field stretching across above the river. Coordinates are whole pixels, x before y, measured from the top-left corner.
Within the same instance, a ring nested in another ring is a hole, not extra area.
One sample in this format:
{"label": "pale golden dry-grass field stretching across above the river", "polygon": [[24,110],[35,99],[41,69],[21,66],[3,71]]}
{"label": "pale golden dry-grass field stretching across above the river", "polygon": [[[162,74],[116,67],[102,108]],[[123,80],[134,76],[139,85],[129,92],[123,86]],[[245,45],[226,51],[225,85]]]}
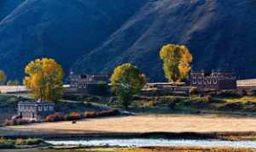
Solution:
{"label": "pale golden dry-grass field stretching across above the river", "polygon": [[0,134],[87,132],[254,132],[256,118],[219,115],[137,115],[0,127]]}

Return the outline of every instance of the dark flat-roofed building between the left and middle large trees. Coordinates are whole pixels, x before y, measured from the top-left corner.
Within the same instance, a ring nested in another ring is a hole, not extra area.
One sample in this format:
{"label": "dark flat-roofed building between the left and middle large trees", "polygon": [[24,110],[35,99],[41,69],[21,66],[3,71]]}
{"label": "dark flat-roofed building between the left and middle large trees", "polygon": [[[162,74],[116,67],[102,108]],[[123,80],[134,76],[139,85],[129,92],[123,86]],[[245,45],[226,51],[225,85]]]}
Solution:
{"label": "dark flat-roofed building between the left and middle large trees", "polygon": [[108,74],[95,74],[95,75],[75,75],[73,71],[69,76],[69,90],[76,93],[96,93],[99,90],[99,84],[106,83],[108,86],[109,75]]}

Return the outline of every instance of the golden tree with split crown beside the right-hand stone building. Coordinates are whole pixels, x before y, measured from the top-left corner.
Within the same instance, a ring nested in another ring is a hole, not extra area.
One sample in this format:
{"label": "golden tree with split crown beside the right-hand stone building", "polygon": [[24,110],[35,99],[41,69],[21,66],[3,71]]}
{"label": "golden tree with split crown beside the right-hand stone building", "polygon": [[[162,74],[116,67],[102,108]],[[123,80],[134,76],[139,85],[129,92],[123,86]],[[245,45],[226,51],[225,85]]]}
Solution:
{"label": "golden tree with split crown beside the right-hand stone building", "polygon": [[181,82],[188,77],[193,57],[186,46],[167,44],[160,50],[160,59],[169,82]]}

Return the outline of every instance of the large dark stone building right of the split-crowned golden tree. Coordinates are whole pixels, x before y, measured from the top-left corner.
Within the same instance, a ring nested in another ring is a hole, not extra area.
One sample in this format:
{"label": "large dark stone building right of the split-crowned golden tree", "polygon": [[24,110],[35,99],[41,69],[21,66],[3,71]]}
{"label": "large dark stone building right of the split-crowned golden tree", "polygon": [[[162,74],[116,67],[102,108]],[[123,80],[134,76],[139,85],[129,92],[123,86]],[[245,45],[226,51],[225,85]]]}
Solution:
{"label": "large dark stone building right of the split-crowned golden tree", "polygon": [[236,77],[231,72],[219,70],[208,73],[193,70],[190,73],[190,83],[199,91],[236,90]]}

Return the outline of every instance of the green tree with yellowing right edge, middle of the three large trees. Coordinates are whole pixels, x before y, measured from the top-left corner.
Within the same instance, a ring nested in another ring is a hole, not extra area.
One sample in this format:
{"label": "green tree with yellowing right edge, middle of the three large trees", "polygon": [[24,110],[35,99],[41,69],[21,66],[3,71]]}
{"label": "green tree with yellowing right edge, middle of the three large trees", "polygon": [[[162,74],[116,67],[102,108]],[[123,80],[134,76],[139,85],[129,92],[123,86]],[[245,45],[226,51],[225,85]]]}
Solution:
{"label": "green tree with yellowing right edge, middle of the three large trees", "polygon": [[132,97],[146,84],[146,76],[136,66],[131,64],[119,65],[111,76],[113,93],[118,95],[118,101],[127,109]]}

